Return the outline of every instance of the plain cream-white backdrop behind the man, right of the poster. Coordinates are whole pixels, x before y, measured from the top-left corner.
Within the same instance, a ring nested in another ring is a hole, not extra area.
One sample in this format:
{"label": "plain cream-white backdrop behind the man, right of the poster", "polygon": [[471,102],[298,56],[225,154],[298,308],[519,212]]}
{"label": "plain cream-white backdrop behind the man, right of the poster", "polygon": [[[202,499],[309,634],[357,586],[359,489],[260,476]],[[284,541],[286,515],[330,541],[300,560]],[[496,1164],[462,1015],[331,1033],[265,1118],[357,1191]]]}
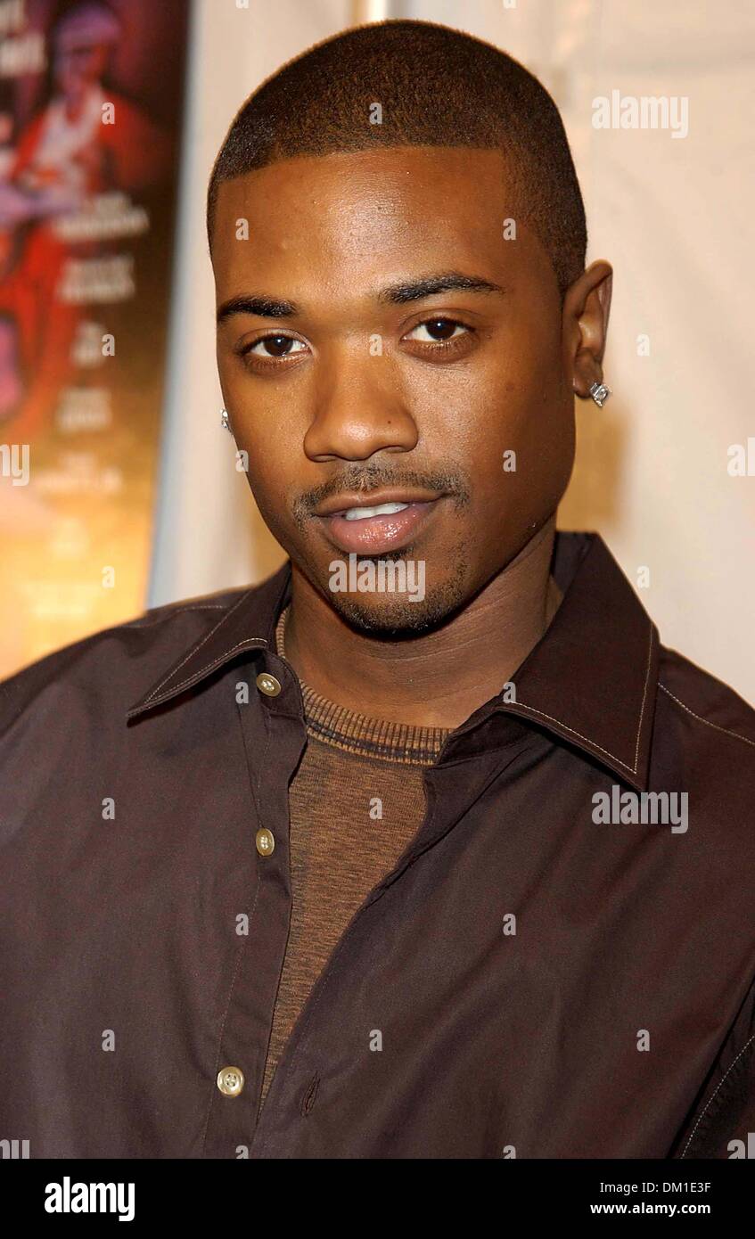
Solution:
{"label": "plain cream-white backdrop behind the man, right of the poster", "polygon": [[[579,405],[559,524],[598,529],[635,584],[648,569],[638,592],[661,639],[755,704],[755,5],[377,0],[372,12],[381,7],[487,38],[554,95],[589,259],[615,268],[614,395],[603,410]],[[197,0],[150,606],[262,580],[283,560],[219,426],[205,193],[241,102],[352,14],[348,0]],[[614,90],[688,99],[687,136],[595,129],[593,100]],[[731,476],[729,449],[748,437],[753,476]]]}

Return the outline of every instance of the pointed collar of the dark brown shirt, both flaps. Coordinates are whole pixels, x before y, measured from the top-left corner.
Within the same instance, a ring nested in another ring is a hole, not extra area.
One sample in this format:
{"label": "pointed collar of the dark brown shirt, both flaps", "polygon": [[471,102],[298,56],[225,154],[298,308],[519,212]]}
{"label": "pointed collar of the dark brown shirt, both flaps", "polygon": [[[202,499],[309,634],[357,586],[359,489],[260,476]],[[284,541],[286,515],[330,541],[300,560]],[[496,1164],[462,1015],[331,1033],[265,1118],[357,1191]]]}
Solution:
{"label": "pointed collar of the dark brown shirt, both flaps", "polygon": [[[657,628],[599,534],[557,533],[552,571],[562,603],[513,676],[516,701],[502,695],[495,709],[531,720],[647,790]],[[275,655],[275,624],[290,596],[286,560],[262,585],[244,590],[126,717],[186,693],[242,653]]]}

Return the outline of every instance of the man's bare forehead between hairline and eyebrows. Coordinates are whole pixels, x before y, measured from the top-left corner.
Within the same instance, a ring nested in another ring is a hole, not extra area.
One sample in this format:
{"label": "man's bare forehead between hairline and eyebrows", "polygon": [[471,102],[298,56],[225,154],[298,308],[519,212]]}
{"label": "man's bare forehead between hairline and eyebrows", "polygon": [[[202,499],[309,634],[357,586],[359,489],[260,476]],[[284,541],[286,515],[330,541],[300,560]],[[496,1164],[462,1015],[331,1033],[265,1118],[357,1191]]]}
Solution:
{"label": "man's bare forehead between hairline and eyebrows", "polygon": [[[517,222],[517,240],[505,222]],[[247,222],[248,239],[243,223]],[[239,228],[242,232],[239,233]],[[218,297],[254,279],[280,291],[307,276],[320,291],[445,265],[488,269],[545,263],[517,219],[500,151],[400,146],[300,156],[218,188],[212,234]],[[288,291],[291,291],[290,289]]]}

